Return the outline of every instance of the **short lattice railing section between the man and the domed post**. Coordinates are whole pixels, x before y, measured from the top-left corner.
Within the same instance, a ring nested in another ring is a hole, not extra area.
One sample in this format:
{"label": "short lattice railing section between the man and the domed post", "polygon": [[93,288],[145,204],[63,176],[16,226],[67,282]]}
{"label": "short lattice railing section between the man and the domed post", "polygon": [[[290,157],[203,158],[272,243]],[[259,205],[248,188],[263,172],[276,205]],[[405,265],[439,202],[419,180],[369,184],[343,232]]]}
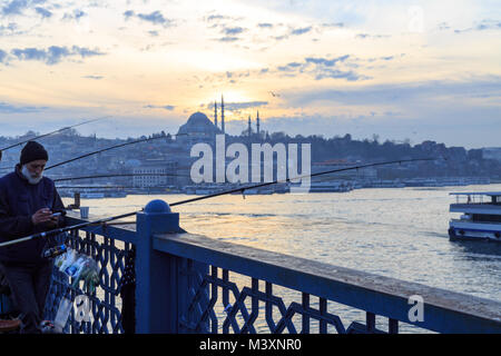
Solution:
{"label": "short lattice railing section between the man and the domed post", "polygon": [[[69,224],[81,222],[69,218]],[[89,301],[89,316],[78,320],[76,309],[70,312],[65,333],[70,334],[121,334],[121,297],[120,280],[124,275],[125,259],[134,244],[135,231],[116,227],[89,227],[82,230],[72,230],[67,245],[76,251],[84,254],[98,264],[99,284],[94,293],[82,290],[80,283],[73,288],[71,277],[55,267],[52,284],[46,303],[46,317],[53,320],[65,297],[75,303],[77,296],[85,295]],[[88,320],[88,322],[87,322]]]}

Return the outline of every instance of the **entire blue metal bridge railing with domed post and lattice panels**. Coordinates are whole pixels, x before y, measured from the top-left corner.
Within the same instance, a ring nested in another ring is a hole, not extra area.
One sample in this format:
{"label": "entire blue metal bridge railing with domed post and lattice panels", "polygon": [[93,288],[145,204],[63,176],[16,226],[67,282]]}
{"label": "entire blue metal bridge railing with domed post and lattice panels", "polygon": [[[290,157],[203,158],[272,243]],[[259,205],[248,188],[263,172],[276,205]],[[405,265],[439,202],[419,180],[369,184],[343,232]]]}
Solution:
{"label": "entire blue metal bridge railing with domed post and lattice panels", "polygon": [[[73,231],[72,244],[99,263],[100,287],[89,296],[91,322],[71,314],[71,333],[124,332],[118,284],[132,245],[137,333],[501,333],[499,301],[187,234],[159,200],[137,214],[136,230],[86,230]],[[68,288],[60,277],[51,315]]]}

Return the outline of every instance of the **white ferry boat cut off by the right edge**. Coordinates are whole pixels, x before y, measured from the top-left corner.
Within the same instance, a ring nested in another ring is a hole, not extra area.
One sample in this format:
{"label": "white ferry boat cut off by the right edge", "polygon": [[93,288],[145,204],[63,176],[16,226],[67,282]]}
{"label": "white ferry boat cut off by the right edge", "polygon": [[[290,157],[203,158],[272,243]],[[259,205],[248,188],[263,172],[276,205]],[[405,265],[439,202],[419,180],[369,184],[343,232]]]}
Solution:
{"label": "white ferry boat cut off by the right edge", "polygon": [[471,239],[501,243],[501,191],[451,192],[456,201],[449,211],[462,212],[449,222],[451,240]]}

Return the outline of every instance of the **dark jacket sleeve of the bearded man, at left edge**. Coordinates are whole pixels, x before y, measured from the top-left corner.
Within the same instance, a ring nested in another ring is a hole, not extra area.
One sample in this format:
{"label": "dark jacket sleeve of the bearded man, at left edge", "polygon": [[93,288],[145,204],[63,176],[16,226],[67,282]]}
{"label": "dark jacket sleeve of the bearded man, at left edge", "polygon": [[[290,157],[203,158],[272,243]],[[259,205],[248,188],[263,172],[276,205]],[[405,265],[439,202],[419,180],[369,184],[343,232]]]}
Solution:
{"label": "dark jacket sleeve of the bearded man, at left edge", "polygon": [[31,234],[33,222],[31,216],[11,216],[9,202],[4,189],[0,188],[0,238],[22,237]]}

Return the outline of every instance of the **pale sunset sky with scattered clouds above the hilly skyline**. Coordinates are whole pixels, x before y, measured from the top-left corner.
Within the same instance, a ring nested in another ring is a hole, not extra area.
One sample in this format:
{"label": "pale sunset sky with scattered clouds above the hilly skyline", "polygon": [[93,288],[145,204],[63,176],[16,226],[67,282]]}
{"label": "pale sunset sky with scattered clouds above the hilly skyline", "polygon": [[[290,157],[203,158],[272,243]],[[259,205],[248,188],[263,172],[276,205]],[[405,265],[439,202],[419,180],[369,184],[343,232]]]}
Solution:
{"label": "pale sunset sky with scattered clouds above the hilly skyline", "polygon": [[[226,131],[501,147],[499,1],[0,0],[1,136]],[[219,113],[220,116],[220,113]]]}

